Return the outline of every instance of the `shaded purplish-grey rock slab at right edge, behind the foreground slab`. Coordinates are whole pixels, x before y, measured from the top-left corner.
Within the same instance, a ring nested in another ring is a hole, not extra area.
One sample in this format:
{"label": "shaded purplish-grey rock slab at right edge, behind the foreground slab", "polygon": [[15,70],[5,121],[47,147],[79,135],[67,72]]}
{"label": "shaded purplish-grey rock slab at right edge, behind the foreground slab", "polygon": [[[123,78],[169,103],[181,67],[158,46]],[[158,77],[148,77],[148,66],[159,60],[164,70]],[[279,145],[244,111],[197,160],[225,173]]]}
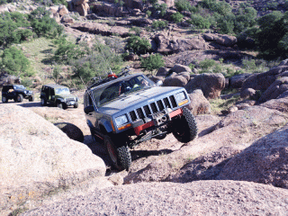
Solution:
{"label": "shaded purplish-grey rock slab at right edge, behind the foreground slab", "polygon": [[217,179],[272,184],[287,189],[288,125],[258,139],[231,158]]}

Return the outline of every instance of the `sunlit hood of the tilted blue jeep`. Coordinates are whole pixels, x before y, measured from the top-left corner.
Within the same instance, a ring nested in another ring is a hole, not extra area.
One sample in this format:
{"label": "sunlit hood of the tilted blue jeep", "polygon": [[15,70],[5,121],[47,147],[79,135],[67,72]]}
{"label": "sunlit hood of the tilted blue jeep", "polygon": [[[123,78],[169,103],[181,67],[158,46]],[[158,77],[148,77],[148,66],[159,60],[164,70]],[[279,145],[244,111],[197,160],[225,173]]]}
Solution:
{"label": "sunlit hood of the tilted blue jeep", "polygon": [[117,112],[130,112],[131,110],[139,108],[140,104],[152,103],[161,99],[162,97],[169,96],[175,92],[179,92],[182,87],[152,87],[143,89],[138,92],[127,94],[125,96],[118,97],[112,102],[105,103],[99,107],[99,112],[103,112],[112,115]]}

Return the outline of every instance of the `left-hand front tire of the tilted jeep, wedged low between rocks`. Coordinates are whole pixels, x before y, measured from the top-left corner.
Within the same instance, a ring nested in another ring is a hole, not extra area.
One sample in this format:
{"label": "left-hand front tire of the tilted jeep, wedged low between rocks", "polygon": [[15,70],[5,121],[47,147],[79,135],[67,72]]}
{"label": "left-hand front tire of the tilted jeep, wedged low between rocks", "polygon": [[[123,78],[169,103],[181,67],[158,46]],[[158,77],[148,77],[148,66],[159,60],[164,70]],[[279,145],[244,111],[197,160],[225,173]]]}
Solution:
{"label": "left-hand front tire of the tilted jeep, wedged low between rocks", "polygon": [[[117,143],[117,145],[116,145]],[[130,149],[120,137],[104,135],[104,145],[107,149],[112,165],[118,170],[129,170],[131,166]]]}

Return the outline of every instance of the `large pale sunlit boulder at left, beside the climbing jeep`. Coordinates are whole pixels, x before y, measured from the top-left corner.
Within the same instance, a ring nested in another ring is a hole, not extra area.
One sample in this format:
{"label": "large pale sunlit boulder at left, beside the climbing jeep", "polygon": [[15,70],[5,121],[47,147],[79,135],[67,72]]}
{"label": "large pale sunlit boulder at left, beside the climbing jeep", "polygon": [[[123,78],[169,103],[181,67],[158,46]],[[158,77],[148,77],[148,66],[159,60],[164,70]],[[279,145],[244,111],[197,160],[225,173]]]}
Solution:
{"label": "large pale sunlit boulder at left, beside the climbing jeep", "polygon": [[31,110],[2,104],[0,118],[0,210],[105,174],[100,157]]}

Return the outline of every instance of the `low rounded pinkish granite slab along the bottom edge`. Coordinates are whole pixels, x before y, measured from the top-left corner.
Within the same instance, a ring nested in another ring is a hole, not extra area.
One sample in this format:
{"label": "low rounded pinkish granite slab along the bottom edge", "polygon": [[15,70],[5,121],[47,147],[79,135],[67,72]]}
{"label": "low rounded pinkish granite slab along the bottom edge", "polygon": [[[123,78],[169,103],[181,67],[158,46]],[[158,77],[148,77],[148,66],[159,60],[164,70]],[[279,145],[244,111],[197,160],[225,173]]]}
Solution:
{"label": "low rounded pinkish granite slab along the bottom edge", "polygon": [[288,215],[288,191],[237,181],[141,183],[95,190],[22,215]]}

